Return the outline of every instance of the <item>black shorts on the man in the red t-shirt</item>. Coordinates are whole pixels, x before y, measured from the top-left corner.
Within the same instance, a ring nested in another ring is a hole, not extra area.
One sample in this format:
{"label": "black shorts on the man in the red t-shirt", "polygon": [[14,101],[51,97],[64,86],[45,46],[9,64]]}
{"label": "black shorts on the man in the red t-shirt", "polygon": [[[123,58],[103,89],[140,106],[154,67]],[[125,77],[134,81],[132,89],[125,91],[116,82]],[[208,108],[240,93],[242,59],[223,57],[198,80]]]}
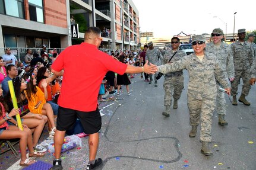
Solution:
{"label": "black shorts on the man in the red t-shirt", "polygon": [[86,112],[59,106],[56,129],[60,131],[72,129],[77,118],[80,119],[86,134],[97,133],[102,128],[102,117],[98,108],[95,111]]}

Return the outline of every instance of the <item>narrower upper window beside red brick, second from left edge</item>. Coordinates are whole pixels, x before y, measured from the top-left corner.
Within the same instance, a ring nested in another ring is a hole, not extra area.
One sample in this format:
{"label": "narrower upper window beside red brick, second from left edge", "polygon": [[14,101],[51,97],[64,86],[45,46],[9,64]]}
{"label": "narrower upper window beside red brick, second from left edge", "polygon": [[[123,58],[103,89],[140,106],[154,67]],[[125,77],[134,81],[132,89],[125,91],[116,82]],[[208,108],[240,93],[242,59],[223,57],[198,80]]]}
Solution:
{"label": "narrower upper window beside red brick, second from left edge", "polygon": [[31,21],[43,23],[42,0],[29,0],[29,17]]}

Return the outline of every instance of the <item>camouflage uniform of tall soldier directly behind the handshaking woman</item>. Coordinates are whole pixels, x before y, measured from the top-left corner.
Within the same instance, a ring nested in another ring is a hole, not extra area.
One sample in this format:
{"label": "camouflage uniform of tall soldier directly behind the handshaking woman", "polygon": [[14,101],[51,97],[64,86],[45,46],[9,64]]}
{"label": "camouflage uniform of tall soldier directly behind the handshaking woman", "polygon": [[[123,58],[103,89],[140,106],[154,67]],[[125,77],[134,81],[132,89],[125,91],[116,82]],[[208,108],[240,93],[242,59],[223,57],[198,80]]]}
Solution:
{"label": "camouflage uniform of tall soldier directly behind the handshaking woman", "polygon": [[[233,56],[231,56],[230,46],[227,43],[222,42],[219,48],[214,43],[206,44],[206,52],[213,53],[217,56],[220,62],[220,66],[224,70],[226,78],[235,77]],[[229,80],[227,80],[229,82]],[[230,85],[229,85],[230,86]],[[223,88],[222,85],[217,81],[217,88]],[[217,90],[217,113],[225,115],[227,111],[227,104],[225,100],[225,93]]]}

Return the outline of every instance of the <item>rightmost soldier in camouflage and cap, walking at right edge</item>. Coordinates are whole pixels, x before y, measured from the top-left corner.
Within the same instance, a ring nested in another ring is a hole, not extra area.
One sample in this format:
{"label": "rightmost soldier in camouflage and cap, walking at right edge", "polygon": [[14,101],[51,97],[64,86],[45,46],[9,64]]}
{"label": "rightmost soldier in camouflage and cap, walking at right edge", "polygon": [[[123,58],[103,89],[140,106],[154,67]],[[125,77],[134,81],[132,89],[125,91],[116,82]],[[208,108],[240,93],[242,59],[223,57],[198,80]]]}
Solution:
{"label": "rightmost soldier in camouflage and cap, walking at right edge", "polygon": [[231,95],[233,96],[233,105],[238,105],[238,102],[236,101],[236,95],[238,94],[238,84],[241,78],[243,80],[242,94],[238,101],[242,102],[244,105],[251,104],[245,99],[245,97],[249,94],[249,90],[251,88],[249,83],[252,76],[250,69],[254,60],[254,54],[250,44],[245,41],[245,33],[245,29],[239,29],[238,41],[235,41],[235,43],[231,44],[230,46],[235,67],[235,79],[233,82],[231,82]]}

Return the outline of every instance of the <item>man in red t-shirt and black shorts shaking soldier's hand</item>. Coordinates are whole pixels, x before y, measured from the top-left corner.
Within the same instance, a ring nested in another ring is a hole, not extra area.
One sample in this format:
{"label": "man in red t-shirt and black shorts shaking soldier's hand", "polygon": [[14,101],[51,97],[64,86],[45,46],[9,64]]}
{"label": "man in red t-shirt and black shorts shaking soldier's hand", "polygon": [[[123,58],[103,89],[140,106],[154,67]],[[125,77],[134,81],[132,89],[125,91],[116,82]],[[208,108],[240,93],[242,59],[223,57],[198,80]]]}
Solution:
{"label": "man in red t-shirt and black shorts shaking soldier's hand", "polygon": [[111,70],[122,75],[124,73],[154,73],[157,70],[155,65],[148,65],[147,62],[144,68],[118,62],[112,56],[97,49],[101,41],[100,29],[89,27],[84,34],[84,43],[67,47],[52,65],[52,72],[55,75],[63,73],[61,94],[58,99],[57,130],[54,136],[53,170],[62,169],[60,157],[65,131],[74,126],[77,118],[83,125],[84,133],[90,134],[87,170],[102,164],[102,159],[96,159],[99,144],[98,131],[102,126],[102,118],[97,108],[97,95],[106,72]]}

